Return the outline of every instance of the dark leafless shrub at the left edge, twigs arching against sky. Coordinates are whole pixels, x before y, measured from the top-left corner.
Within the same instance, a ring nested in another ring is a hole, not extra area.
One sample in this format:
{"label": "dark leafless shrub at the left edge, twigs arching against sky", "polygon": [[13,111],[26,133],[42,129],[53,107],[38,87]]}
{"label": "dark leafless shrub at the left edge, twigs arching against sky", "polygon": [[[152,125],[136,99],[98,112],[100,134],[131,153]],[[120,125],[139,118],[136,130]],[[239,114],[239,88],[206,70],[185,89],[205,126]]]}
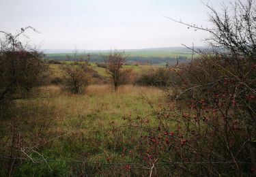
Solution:
{"label": "dark leafless shrub at the left edge, twigs arching against sky", "polygon": [[40,86],[48,70],[48,65],[42,60],[43,54],[23,46],[18,40],[27,29],[33,28],[22,28],[16,35],[0,31],[3,34],[0,52],[1,108],[13,99],[26,97],[32,88]]}

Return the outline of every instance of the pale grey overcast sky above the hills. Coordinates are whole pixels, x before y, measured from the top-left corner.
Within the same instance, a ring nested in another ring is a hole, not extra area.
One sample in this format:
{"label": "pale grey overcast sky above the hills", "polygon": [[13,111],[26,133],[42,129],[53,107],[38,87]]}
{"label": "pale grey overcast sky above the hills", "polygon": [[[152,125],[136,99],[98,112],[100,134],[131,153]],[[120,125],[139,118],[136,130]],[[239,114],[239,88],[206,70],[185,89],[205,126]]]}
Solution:
{"label": "pale grey overcast sky above the hills", "polygon": [[[212,0],[220,9],[221,2]],[[231,0],[232,1],[232,0]],[[0,30],[28,25],[30,44],[49,49],[134,49],[203,46],[207,36],[164,16],[208,25],[200,0],[0,0]]]}

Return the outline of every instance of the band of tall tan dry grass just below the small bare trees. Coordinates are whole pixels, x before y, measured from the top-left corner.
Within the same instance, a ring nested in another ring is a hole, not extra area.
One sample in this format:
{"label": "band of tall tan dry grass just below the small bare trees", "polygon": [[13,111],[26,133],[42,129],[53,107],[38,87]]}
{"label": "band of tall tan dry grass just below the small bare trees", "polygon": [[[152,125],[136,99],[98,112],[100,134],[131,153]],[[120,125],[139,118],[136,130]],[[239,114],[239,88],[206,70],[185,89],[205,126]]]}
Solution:
{"label": "band of tall tan dry grass just below the small bare trees", "polygon": [[117,93],[108,85],[88,86],[85,95],[64,93],[57,86],[48,86],[44,88],[44,92],[55,108],[63,112],[65,118],[86,117],[91,114],[104,119],[122,118],[128,114],[143,116],[152,112],[143,95],[147,95],[154,106],[162,101],[160,98],[163,99],[162,91],[158,88],[131,85],[121,86]]}

